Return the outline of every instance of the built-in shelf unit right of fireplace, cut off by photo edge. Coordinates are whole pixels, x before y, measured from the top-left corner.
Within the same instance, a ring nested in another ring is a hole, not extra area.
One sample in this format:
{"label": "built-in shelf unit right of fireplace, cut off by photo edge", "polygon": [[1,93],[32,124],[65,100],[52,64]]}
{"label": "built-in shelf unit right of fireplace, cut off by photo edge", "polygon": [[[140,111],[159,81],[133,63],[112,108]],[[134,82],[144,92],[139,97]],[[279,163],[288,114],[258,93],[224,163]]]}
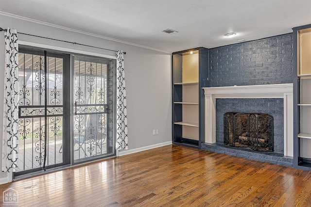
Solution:
{"label": "built-in shelf unit right of fireplace, cut off by photo edge", "polygon": [[294,166],[311,170],[311,24],[293,30]]}

